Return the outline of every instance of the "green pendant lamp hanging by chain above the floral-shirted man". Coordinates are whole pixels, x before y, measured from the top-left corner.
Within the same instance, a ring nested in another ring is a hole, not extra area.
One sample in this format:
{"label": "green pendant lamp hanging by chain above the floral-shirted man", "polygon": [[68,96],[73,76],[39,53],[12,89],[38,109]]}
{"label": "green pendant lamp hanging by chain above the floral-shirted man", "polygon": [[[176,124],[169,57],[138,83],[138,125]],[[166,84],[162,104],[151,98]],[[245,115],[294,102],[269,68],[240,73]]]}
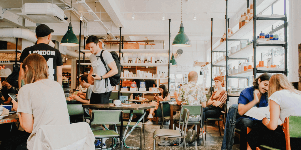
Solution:
{"label": "green pendant lamp hanging by chain above the floral-shirted man", "polygon": [[180,31],[178,32],[178,35],[175,36],[175,38],[172,42],[172,46],[189,47],[189,46],[191,46],[191,42],[190,42],[188,36],[184,32],[184,26],[182,23],[182,13],[183,13],[182,7],[183,7],[183,3],[181,0],[181,26],[180,26]]}

